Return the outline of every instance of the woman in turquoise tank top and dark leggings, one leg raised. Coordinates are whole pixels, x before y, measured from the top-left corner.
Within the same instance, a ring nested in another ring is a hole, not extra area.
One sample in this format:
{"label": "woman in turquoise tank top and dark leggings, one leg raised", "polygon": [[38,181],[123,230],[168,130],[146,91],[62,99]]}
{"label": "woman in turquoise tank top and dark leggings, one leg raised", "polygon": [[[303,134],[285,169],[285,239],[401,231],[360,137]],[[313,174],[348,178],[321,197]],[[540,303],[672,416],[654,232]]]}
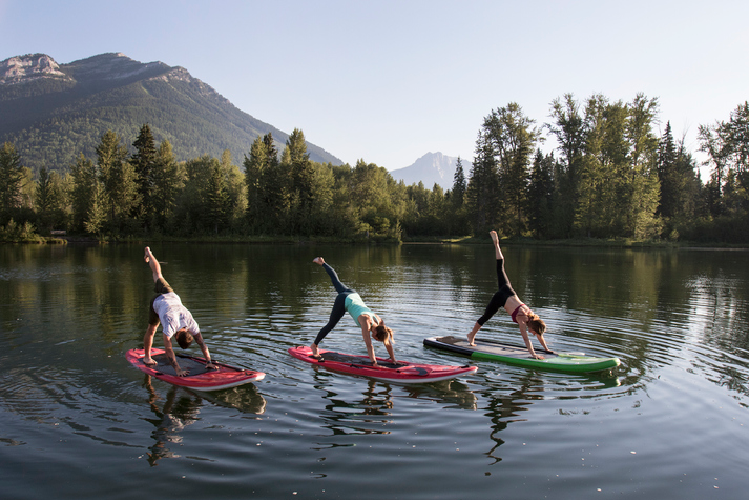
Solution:
{"label": "woman in turquoise tank top and dark leggings, one leg raised", "polygon": [[391,361],[396,363],[396,357],[393,354],[393,330],[385,326],[383,320],[365,305],[358,293],[351,288],[347,288],[341,283],[341,281],[339,281],[336,271],[326,264],[323,257],[316,257],[313,259],[313,262],[319,266],[323,266],[331,277],[333,287],[339,293],[336,296],[336,300],[333,302],[333,310],[331,310],[331,318],[328,320],[328,324],[320,329],[318,336],[315,338],[315,342],[310,346],[313,356],[316,358],[319,357],[318,344],[320,344],[333,327],[336,326],[336,323],[339,322],[344,314],[348,312],[357,326],[362,328],[362,339],[367,345],[367,354],[370,356],[372,365],[378,366],[378,362],[375,359],[375,349],[372,347],[370,334],[372,334],[372,338],[385,344],[386,349],[388,349],[388,354],[391,356]]}

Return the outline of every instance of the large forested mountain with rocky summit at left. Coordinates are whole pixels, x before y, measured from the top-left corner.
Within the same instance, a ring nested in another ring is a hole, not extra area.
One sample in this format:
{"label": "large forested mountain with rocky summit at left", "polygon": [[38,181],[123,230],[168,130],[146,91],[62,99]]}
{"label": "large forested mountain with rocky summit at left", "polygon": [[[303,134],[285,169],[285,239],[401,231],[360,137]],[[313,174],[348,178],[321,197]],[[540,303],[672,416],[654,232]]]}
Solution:
{"label": "large forested mountain with rocky summit at left", "polygon": [[[58,64],[45,54],[0,62],[0,143],[13,142],[24,165],[67,167],[80,153],[94,159],[111,129],[132,151],[148,123],[158,143],[167,139],[178,160],[220,158],[225,149],[241,165],[260,135],[271,133],[279,152],[288,134],[241,111],[181,66],[141,63],[101,54]],[[310,159],[342,162],[307,144]]]}

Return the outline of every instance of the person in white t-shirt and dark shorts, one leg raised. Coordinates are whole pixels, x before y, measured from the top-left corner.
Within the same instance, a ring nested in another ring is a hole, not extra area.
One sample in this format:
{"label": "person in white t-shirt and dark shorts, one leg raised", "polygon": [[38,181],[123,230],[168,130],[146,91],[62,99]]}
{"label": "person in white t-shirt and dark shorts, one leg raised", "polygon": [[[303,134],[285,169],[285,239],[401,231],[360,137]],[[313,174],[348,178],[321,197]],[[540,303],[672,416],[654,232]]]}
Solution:
{"label": "person in white t-shirt and dark shorts, one leg raised", "polygon": [[143,363],[149,366],[157,364],[156,361],[151,359],[151,345],[154,342],[156,329],[159,327],[159,323],[162,323],[164,353],[167,355],[167,360],[174,368],[178,377],[188,375],[188,371],[180,368],[179,363],[177,363],[174,351],[172,350],[172,337],[177,340],[177,343],[183,349],[187,349],[192,344],[193,339],[195,339],[201,347],[201,351],[203,351],[203,356],[206,358],[206,368],[214,369],[215,367],[211,363],[211,355],[208,353],[208,347],[206,347],[205,342],[203,342],[203,336],[201,335],[198,323],[195,322],[190,311],[182,305],[180,296],[174,293],[172,287],[169,286],[167,280],[162,276],[161,264],[156,260],[154,254],[151,253],[149,247],[146,247],[144,260],[151,267],[151,276],[154,278],[154,292],[157,295],[151,299],[151,307],[149,307],[148,311],[148,329],[146,330],[146,335],[143,337],[143,350],[145,351]]}

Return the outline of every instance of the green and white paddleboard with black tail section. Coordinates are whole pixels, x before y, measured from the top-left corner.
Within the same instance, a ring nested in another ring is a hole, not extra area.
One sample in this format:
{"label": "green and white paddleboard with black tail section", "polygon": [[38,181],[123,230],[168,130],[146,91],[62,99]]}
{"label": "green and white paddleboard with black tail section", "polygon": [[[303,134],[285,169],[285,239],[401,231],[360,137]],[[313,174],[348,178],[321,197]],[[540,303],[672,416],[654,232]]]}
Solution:
{"label": "green and white paddleboard with black tail section", "polygon": [[534,359],[524,346],[503,344],[491,340],[475,340],[469,345],[466,338],[431,337],[424,339],[424,345],[456,352],[472,359],[501,361],[516,366],[556,370],[573,373],[591,373],[608,370],[620,365],[619,358],[602,358],[582,353],[550,353],[537,351],[544,359]]}

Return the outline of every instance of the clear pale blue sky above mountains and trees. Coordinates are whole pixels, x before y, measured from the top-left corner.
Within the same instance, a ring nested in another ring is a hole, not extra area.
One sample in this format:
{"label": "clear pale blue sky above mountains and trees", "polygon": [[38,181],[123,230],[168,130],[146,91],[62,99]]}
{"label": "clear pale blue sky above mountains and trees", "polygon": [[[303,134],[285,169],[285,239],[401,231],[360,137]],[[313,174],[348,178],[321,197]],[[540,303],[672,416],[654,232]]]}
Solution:
{"label": "clear pale blue sky above mountains and trees", "polygon": [[655,133],[669,121],[699,157],[699,125],[728,121],[748,100],[748,4],[0,0],[0,60],[121,52],[183,66],[351,165],[393,170],[438,152],[471,161],[492,110],[516,102],[541,127],[568,93],[657,98]]}

